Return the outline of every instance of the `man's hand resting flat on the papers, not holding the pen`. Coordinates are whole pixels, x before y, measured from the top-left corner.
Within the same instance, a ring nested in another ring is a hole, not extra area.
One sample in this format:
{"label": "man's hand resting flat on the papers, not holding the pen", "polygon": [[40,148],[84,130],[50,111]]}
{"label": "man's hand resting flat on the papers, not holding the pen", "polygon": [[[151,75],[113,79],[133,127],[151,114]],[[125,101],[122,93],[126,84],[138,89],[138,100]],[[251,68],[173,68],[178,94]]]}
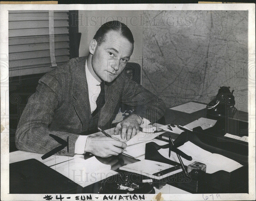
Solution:
{"label": "man's hand resting flat on the papers, not holding the pen", "polygon": [[140,132],[139,125],[141,125],[141,122],[141,118],[137,115],[130,115],[116,125],[114,135],[121,133],[121,138],[124,139],[126,134],[126,140],[130,140],[138,132]]}

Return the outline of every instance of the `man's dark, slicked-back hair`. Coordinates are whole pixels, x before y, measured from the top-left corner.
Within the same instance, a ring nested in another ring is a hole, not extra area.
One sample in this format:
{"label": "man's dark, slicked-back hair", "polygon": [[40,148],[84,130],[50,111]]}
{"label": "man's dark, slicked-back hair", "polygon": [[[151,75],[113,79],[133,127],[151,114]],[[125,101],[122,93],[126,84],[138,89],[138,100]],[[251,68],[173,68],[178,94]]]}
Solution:
{"label": "man's dark, slicked-back hair", "polygon": [[131,30],[120,21],[109,21],[105,24],[101,25],[98,31],[95,33],[93,39],[97,41],[97,44],[100,45],[102,42],[105,41],[105,35],[109,31],[116,31],[121,34],[124,38],[126,38],[129,42],[134,44],[134,39]]}

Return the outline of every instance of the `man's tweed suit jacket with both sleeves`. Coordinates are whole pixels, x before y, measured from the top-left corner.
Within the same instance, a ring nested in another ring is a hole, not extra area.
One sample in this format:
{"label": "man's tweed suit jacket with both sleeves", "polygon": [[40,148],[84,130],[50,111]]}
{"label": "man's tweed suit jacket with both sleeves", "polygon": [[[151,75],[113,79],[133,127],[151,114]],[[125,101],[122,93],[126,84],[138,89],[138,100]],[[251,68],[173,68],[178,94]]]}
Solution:
{"label": "man's tweed suit jacket with both sleeves", "polygon": [[[52,134],[64,140],[69,137],[69,152],[65,147],[57,155],[74,155],[78,133],[88,131],[93,119],[85,72],[86,59],[71,59],[39,80],[36,92],[28,99],[18,123],[15,136],[19,150],[45,154],[60,146],[49,136]],[[103,127],[110,121],[120,103],[133,106],[135,114],[152,122],[165,112],[164,101],[159,101],[159,97],[157,99],[141,85],[128,81],[121,73],[112,83],[105,84],[105,105],[97,116],[97,127]],[[150,105],[148,112],[147,105]]]}

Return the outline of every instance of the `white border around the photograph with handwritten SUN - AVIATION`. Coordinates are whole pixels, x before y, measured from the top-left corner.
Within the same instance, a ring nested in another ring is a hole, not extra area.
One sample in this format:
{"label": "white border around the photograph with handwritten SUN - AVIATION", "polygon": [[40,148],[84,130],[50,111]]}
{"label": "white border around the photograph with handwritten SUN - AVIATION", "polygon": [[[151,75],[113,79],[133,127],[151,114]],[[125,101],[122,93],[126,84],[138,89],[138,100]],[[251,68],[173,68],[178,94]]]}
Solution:
{"label": "white border around the photograph with handwritten SUN - AVIATION", "polygon": [[[0,5],[0,59],[8,60],[8,10],[248,10],[248,54],[255,59],[255,4],[1,4]],[[5,55],[7,58],[4,58]],[[1,65],[2,66],[2,65]],[[1,81],[8,78],[8,68],[1,68]],[[253,77],[253,75],[251,75]],[[255,80],[255,74],[254,74]],[[250,87],[249,132],[255,133],[255,86]],[[1,83],[1,200],[43,200],[45,194],[8,194],[9,193],[9,134],[2,130],[9,129],[9,96],[7,82]],[[53,197],[57,194],[53,195]],[[76,194],[85,195],[85,194]],[[103,194],[91,194],[103,200]],[[113,194],[115,195],[115,194]],[[211,194],[162,194],[164,200],[205,200]],[[58,194],[59,196],[59,194]],[[70,195],[63,194],[62,197]],[[154,194],[145,195],[145,200],[152,200]],[[204,196],[204,197],[203,197]],[[254,200],[255,199],[255,135],[249,136],[249,194],[220,194],[221,199],[214,200]],[[118,196],[117,196],[118,197]],[[55,197],[54,197],[55,198]],[[55,199],[52,200],[55,200]],[[64,199],[67,200],[67,199]],[[70,199],[71,200],[71,199]],[[117,199],[118,200],[118,199]],[[208,200],[212,200],[209,197]]]}

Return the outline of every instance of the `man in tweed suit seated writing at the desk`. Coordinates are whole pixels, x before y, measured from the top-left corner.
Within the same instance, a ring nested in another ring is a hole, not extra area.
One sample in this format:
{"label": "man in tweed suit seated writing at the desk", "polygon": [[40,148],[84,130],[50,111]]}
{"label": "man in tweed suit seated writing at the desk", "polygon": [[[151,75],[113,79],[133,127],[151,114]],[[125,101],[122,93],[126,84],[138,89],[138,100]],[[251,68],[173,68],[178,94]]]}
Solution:
{"label": "man in tweed suit seated writing at the desk", "polygon": [[[71,59],[46,73],[20,118],[16,147],[45,154],[60,145],[49,136],[52,134],[69,138],[69,151],[65,147],[58,155],[91,152],[109,157],[122,153],[126,144],[121,141],[81,133],[105,128],[120,103],[135,109],[115,128],[114,134],[120,134],[122,139],[136,135],[143,117],[154,122],[163,116],[164,103],[156,101],[156,96],[141,85],[128,81],[122,72],[133,52],[133,43],[126,25],[119,21],[105,23],[91,40],[87,58]],[[95,103],[97,97],[104,99],[103,105]],[[150,112],[146,112],[145,104],[152,108]]]}

